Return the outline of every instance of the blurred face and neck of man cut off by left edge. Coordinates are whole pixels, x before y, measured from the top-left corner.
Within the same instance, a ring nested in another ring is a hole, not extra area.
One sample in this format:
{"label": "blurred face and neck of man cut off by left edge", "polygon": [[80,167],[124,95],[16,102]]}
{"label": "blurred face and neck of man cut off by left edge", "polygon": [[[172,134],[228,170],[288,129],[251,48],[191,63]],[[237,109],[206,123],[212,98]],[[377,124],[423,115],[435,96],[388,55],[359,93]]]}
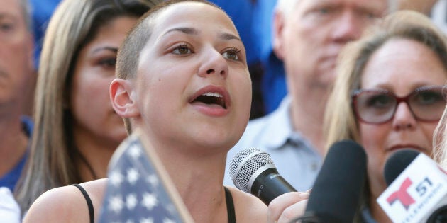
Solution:
{"label": "blurred face and neck of man cut off by left edge", "polygon": [[20,115],[35,80],[33,37],[16,0],[0,4],[0,176],[10,171],[26,151],[28,137]]}

